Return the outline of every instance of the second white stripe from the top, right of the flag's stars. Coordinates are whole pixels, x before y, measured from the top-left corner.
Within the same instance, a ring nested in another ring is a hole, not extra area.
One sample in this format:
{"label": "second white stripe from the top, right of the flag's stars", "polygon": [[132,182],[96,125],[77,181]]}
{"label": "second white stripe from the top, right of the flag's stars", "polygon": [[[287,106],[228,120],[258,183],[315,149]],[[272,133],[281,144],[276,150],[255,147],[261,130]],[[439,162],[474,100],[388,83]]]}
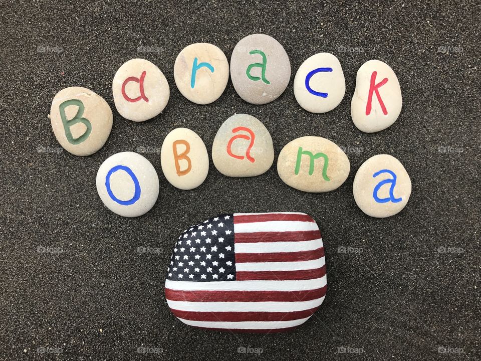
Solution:
{"label": "second white stripe from the top, right of the flag's stars", "polygon": [[235,253],[276,253],[312,251],[322,247],[322,239],[298,242],[235,243]]}

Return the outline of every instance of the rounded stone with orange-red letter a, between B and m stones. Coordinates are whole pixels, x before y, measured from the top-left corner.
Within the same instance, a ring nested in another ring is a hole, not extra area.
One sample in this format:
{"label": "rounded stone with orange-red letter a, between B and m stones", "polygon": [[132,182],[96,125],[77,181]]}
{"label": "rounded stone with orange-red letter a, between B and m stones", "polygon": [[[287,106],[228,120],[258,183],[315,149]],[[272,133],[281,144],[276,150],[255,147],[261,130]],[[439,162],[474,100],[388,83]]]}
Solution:
{"label": "rounded stone with orange-red letter a, between B and m stones", "polygon": [[219,172],[232,177],[255,176],[274,162],[269,130],[249,114],[234,114],[215,134],[212,161]]}

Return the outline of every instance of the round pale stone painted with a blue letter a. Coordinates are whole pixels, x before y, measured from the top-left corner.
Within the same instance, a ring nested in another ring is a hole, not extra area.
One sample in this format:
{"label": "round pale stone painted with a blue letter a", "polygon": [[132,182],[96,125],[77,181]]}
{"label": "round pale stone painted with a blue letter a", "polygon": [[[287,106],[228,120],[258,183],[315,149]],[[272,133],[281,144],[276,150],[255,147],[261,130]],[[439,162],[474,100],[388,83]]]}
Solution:
{"label": "round pale stone painted with a blue letter a", "polygon": [[376,218],[393,216],[406,206],[411,195],[411,179],[399,160],[378,154],[359,167],[352,193],[358,207]]}

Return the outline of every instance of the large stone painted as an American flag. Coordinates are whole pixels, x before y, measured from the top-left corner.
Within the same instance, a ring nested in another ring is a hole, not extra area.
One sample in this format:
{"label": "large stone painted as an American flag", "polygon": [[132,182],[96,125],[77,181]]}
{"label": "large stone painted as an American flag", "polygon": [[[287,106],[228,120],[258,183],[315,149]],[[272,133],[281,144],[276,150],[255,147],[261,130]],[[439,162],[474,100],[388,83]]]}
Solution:
{"label": "large stone painted as an American flag", "polygon": [[295,328],[325,294],[321,233],[304,213],[234,213],[192,226],[175,244],[165,281],[182,322],[232,332]]}

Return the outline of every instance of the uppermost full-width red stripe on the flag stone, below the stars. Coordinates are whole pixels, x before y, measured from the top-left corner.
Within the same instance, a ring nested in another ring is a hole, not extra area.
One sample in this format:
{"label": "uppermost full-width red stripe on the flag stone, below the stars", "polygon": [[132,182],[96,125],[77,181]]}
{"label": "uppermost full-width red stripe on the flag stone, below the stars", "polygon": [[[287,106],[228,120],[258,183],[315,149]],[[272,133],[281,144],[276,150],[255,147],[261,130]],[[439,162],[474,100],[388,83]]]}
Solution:
{"label": "uppermost full-width red stripe on the flag stone, below the stars", "polygon": [[182,291],[165,289],[170,301],[189,302],[296,302],[326,295],[326,286],[306,291]]}

